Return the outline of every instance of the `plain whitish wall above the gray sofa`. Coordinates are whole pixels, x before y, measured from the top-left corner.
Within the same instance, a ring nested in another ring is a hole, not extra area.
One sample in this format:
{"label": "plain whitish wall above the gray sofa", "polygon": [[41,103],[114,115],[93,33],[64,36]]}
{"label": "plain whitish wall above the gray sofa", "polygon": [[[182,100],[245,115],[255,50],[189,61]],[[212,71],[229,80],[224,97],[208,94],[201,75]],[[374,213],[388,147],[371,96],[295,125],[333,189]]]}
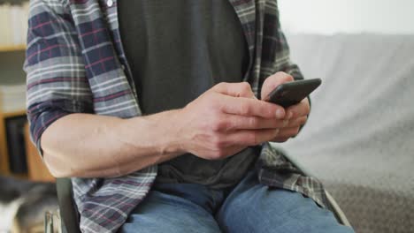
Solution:
{"label": "plain whitish wall above the gray sofa", "polygon": [[414,0],[279,0],[282,27],[318,34],[414,34]]}

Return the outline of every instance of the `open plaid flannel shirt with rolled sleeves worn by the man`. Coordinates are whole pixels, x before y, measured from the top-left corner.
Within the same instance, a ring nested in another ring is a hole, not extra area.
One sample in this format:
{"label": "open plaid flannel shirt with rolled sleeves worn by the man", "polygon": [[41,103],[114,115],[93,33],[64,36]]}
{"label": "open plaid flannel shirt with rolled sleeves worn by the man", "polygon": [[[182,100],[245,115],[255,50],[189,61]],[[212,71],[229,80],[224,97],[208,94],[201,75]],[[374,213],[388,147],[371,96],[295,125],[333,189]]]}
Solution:
{"label": "open plaid flannel shirt with rolled sleeves worn by the man", "polygon": [[[248,42],[249,71],[244,80],[255,94],[276,71],[303,79],[289,60],[276,0],[229,1]],[[111,4],[103,0],[32,0],[28,24],[27,116],[41,153],[42,132],[62,116],[141,116],[120,41],[116,0]],[[260,158],[259,179],[264,184],[303,192],[326,207],[322,184],[304,177],[270,144],[263,146]],[[156,176],[157,166],[151,166],[124,177],[73,178],[81,231],[116,232],[149,192]]]}

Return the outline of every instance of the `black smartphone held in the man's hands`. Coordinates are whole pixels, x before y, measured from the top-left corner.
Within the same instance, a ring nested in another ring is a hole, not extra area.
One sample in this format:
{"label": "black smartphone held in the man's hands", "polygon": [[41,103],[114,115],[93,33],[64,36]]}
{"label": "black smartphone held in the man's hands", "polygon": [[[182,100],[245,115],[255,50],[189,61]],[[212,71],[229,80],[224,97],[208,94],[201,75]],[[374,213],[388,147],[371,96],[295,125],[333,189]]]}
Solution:
{"label": "black smartphone held in the man's hands", "polygon": [[265,101],[276,103],[287,108],[302,101],[311,94],[320,84],[321,79],[303,79],[280,84],[267,95]]}

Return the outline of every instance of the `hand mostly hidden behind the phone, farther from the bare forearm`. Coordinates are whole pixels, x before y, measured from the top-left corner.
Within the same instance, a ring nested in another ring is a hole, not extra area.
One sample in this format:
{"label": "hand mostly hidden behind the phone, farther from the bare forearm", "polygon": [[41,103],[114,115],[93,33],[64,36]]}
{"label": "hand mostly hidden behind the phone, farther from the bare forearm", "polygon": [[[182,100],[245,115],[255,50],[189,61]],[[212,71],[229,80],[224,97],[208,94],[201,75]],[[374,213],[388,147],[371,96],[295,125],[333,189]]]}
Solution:
{"label": "hand mostly hidden behind the phone, farther from the bare forearm", "polygon": [[[261,99],[263,100],[268,94],[270,94],[276,86],[293,80],[294,78],[285,72],[277,72],[273,74],[269,78],[265,79],[262,86]],[[306,123],[310,110],[311,107],[308,98],[305,98],[298,104],[285,109],[286,116],[284,118],[284,126],[280,128],[279,134],[271,139],[271,141],[284,142],[292,137],[295,137],[295,135],[299,132],[300,127]]]}

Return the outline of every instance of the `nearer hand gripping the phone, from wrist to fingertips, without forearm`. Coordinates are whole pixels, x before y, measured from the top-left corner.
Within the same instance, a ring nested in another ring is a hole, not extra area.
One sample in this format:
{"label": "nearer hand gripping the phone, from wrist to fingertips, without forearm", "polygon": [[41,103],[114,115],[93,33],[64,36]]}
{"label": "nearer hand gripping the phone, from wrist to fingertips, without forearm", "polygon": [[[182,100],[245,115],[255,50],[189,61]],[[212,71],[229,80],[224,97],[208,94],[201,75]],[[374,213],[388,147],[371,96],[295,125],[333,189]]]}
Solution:
{"label": "nearer hand gripping the phone, from wrist to fingertips, without forearm", "polygon": [[249,83],[219,83],[180,109],[177,137],[183,151],[208,160],[226,158],[274,139],[285,109],[257,100]]}

